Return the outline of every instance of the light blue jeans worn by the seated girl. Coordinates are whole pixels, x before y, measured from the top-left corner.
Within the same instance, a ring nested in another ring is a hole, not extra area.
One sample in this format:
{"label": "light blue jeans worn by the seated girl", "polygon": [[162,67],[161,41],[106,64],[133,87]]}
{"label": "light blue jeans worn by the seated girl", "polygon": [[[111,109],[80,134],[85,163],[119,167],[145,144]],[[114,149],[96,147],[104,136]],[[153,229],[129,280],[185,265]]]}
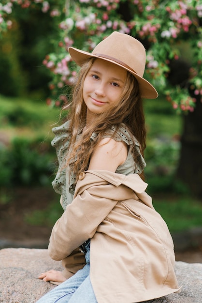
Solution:
{"label": "light blue jeans worn by the seated girl", "polygon": [[90,282],[90,242],[86,246],[86,262],[83,269],[49,291],[36,303],[97,303]]}

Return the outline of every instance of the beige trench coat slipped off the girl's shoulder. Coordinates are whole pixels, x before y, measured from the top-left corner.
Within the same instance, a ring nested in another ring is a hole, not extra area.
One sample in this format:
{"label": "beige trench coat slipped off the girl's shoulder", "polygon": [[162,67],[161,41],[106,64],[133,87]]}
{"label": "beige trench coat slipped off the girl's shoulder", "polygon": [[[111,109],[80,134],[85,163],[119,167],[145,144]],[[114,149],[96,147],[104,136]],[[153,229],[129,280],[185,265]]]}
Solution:
{"label": "beige trench coat slipped off the girl's shoulder", "polygon": [[90,238],[98,303],[142,302],[179,291],[173,240],[139,175],[88,170],[79,179],[72,203],[53,227],[51,258],[66,258]]}

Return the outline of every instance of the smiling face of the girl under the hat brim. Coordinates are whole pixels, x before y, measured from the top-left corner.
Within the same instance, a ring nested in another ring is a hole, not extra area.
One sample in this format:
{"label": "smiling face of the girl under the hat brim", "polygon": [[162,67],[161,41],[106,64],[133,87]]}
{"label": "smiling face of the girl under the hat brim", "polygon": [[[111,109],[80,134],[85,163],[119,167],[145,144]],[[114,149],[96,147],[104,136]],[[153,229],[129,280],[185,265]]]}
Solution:
{"label": "smiling face of the girl under the hat brim", "polygon": [[87,117],[116,106],[124,89],[127,71],[111,62],[96,59],[84,80],[83,98]]}

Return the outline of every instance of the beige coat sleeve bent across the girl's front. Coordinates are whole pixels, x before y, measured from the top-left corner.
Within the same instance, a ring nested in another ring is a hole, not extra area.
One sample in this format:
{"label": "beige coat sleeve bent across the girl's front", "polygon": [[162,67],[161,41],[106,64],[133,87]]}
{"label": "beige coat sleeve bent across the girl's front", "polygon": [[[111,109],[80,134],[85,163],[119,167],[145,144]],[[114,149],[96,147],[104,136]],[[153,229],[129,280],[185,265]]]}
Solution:
{"label": "beige coat sleeve bent across the girl's front", "polygon": [[[68,257],[74,249],[92,238],[97,227],[117,203],[117,200],[111,198],[115,188],[112,184],[100,182],[98,185],[92,182],[83,188],[77,191],[77,196],[52,229],[48,251],[54,260]],[[106,192],[111,192],[110,198],[105,197]]]}

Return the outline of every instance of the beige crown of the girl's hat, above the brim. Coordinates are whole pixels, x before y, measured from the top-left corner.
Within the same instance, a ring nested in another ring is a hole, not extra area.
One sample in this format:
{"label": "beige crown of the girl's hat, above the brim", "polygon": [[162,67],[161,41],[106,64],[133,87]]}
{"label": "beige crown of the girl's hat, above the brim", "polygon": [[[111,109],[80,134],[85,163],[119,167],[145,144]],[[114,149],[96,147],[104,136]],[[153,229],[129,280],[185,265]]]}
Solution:
{"label": "beige crown of the girl's hat, above the brim", "polygon": [[130,35],[114,31],[96,45],[92,54],[108,56],[112,61],[115,59],[116,62],[122,62],[139,76],[144,75],[146,62],[144,46]]}

